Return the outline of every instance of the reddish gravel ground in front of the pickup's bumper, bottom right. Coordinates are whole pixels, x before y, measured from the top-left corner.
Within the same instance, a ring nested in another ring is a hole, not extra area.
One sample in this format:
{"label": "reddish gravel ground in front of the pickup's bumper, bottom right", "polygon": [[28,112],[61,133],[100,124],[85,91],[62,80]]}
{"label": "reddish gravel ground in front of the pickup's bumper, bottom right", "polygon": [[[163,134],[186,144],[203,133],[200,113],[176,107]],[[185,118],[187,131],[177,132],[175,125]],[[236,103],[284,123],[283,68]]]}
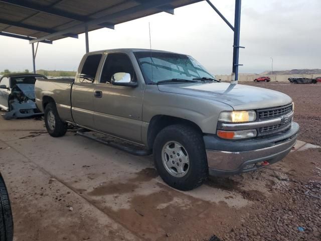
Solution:
{"label": "reddish gravel ground in front of the pickup's bumper, bottom right", "polygon": [[[320,241],[320,154],[320,149],[291,153],[259,172],[230,177],[236,181],[234,191],[243,193],[253,204],[228,232],[216,233],[220,239],[213,236],[207,240]],[[244,191],[251,183],[256,188]]]}

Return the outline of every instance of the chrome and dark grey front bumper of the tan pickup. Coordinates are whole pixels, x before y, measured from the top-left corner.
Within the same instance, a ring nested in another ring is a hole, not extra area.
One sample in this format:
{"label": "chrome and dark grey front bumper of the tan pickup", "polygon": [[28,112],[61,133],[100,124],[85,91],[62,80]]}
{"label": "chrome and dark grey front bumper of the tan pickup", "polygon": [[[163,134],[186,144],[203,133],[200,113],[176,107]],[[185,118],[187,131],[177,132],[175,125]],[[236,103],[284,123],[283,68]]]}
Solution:
{"label": "chrome and dark grey front bumper of the tan pickup", "polygon": [[209,174],[234,175],[280,161],[295,145],[298,131],[299,125],[292,122],[288,130],[270,137],[227,141],[217,136],[204,136]]}

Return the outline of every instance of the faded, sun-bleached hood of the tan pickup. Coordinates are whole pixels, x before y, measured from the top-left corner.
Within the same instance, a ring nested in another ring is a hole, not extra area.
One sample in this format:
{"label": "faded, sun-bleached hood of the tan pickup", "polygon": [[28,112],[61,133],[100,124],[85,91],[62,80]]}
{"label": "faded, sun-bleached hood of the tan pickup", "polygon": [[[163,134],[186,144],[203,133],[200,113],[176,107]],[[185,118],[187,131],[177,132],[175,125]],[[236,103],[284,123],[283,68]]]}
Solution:
{"label": "faded, sun-bleached hood of the tan pickup", "polygon": [[222,82],[160,84],[158,89],[223,102],[234,110],[269,108],[292,102],[288,95],[275,90]]}

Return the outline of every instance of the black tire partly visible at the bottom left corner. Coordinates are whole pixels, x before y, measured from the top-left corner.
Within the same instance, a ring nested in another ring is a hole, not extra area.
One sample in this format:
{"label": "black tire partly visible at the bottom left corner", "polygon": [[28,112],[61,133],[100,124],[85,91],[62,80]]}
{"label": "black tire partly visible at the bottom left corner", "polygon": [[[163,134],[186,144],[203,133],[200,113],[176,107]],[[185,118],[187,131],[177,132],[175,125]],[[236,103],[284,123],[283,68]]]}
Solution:
{"label": "black tire partly visible at the bottom left corner", "polygon": [[14,221],[4,178],[0,174],[0,241],[14,239]]}

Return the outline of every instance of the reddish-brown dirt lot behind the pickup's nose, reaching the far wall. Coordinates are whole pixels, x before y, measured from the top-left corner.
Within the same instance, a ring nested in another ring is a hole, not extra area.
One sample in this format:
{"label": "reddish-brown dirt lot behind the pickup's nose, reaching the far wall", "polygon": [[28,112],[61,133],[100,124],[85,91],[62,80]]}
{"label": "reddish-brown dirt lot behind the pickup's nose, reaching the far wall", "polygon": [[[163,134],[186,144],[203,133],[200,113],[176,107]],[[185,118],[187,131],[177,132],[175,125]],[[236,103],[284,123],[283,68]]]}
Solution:
{"label": "reddish-brown dirt lot behind the pickup's nose, reaching the far wall", "polygon": [[273,89],[289,95],[295,103],[294,121],[300,125],[299,140],[321,146],[321,84],[275,82],[241,83]]}

